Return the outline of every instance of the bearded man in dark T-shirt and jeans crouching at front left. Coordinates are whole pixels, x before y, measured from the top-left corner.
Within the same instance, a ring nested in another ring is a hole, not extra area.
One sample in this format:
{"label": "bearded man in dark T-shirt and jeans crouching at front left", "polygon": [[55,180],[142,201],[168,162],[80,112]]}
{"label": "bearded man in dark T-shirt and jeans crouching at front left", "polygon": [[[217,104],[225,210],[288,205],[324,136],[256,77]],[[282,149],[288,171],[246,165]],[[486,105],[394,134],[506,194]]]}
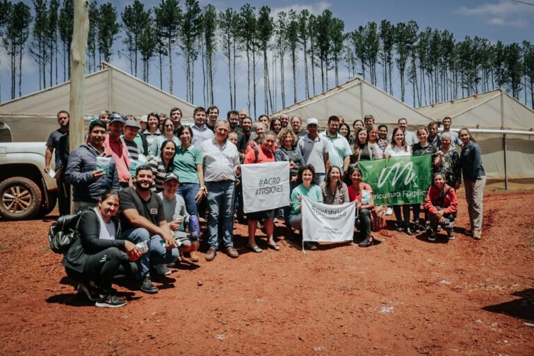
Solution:
{"label": "bearded man in dark T-shirt and jeans crouching at front left", "polygon": [[152,168],[140,165],[136,168],[135,184],[119,192],[121,238],[136,244],[147,241],[148,252],[136,261],[139,266],[136,278],[140,290],[149,294],[158,292],[150,279],[151,264],[157,273],[168,275],[170,270],[165,265],[179,257],[179,242],[165,220],[163,202],[150,191],[153,179]]}

